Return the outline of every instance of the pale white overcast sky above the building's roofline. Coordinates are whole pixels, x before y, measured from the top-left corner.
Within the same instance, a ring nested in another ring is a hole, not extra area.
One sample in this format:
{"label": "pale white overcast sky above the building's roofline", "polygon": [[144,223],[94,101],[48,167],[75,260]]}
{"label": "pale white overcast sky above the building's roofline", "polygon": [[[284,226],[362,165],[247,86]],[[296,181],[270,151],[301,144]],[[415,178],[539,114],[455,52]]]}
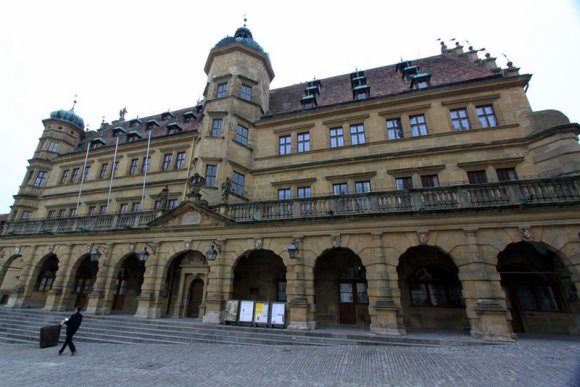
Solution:
{"label": "pale white overcast sky above the building's roofline", "polygon": [[101,121],[193,106],[209,50],[243,25],[269,53],[272,88],[440,53],[455,38],[533,74],[534,110],[580,121],[580,2],[18,0],[0,4],[0,214],[51,111]]}

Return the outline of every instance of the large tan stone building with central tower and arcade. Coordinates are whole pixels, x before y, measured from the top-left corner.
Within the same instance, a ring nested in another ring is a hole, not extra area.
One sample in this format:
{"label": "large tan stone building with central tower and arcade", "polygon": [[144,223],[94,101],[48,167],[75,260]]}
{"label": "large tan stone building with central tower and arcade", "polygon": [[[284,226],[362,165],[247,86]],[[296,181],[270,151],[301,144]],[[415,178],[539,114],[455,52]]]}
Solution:
{"label": "large tan stone building with central tower and arcade", "polygon": [[442,44],[270,90],[245,26],[204,70],[193,107],[43,121],[0,238],[6,307],[580,332],[580,127],[531,110],[531,75]]}

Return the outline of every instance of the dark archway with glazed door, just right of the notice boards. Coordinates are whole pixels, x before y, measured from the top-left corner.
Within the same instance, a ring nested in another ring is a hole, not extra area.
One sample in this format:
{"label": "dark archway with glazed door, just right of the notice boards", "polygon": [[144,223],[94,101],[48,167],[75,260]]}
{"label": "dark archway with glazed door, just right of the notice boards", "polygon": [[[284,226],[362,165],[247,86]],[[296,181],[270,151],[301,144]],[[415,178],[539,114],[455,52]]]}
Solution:
{"label": "dark archway with glazed door, just right of the notice boards", "polygon": [[346,248],[326,250],[314,267],[316,324],[370,326],[366,269]]}

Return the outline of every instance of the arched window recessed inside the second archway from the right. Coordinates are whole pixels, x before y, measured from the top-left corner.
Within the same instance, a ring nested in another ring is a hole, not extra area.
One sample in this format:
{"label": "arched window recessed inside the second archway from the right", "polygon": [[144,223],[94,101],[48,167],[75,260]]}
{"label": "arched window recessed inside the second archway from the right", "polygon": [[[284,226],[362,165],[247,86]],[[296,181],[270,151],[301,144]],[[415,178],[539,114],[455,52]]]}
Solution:
{"label": "arched window recessed inside the second archway from the right", "polygon": [[443,267],[420,266],[409,277],[413,306],[461,307],[461,283],[457,274]]}

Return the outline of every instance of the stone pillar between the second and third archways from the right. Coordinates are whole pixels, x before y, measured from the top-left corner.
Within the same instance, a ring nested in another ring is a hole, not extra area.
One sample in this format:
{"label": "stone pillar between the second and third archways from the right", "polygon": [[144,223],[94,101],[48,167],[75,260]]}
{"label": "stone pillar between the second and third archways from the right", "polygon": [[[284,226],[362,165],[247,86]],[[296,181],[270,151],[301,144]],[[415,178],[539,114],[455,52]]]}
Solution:
{"label": "stone pillar between the second and third archways from the right", "polygon": [[398,289],[397,271],[394,266],[394,276],[389,273],[389,266],[383,246],[383,233],[372,233],[371,257],[366,266],[369,294],[369,309],[371,315],[371,332],[380,335],[404,335],[405,328],[399,324],[400,294]]}

